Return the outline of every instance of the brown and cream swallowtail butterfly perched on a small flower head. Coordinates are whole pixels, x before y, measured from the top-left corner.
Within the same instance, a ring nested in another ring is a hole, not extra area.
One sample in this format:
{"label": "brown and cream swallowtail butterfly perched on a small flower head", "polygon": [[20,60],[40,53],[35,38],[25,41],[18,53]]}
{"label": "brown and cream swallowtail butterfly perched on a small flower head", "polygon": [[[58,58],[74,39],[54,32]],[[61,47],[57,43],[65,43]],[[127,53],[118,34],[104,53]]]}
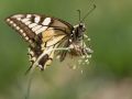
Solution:
{"label": "brown and cream swallowtail butterfly perched on a small flower head", "polygon": [[63,62],[67,54],[88,57],[92,52],[84,42],[87,35],[82,22],[72,25],[61,19],[41,14],[14,14],[6,21],[29,44],[29,70],[34,66],[45,69],[54,57]]}

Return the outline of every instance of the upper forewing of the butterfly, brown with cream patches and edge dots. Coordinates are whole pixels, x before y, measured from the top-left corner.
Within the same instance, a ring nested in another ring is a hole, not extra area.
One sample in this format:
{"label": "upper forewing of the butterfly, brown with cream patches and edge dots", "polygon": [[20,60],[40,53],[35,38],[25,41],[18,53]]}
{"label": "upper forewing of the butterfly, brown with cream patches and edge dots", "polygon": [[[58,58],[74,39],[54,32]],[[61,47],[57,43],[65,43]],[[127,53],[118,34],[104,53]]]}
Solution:
{"label": "upper forewing of the butterfly, brown with cream patches and edge dots", "polygon": [[73,29],[73,26],[65,21],[40,14],[15,14],[8,18],[7,22],[30,43],[31,41],[37,41],[36,35],[48,28],[61,29],[67,33],[70,33]]}

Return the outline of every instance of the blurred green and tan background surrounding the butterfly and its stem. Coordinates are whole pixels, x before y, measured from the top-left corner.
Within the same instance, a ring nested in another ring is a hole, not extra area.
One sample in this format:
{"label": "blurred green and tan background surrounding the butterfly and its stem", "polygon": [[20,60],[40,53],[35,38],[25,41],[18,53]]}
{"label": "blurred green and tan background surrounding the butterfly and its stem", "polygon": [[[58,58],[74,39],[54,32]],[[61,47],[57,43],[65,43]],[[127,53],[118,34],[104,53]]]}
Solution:
{"label": "blurred green and tan background surrounding the butterfly and its stem", "polygon": [[[0,0],[0,99],[24,99],[30,63],[28,44],[4,19],[15,13],[41,13],[78,22],[89,0]],[[94,50],[84,74],[53,63],[33,74],[29,99],[132,99],[132,0],[97,0],[85,21]]]}

